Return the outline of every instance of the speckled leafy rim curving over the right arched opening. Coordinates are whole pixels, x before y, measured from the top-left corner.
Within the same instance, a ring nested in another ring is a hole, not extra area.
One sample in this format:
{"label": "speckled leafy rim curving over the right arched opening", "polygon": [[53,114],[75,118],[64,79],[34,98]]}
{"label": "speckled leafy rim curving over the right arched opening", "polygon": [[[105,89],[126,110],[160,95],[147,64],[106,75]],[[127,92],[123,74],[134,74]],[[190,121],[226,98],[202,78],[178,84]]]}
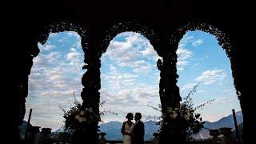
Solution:
{"label": "speckled leafy rim curving over the right arched opening", "polygon": [[[172,55],[174,55],[174,63],[177,63],[177,54],[178,50],[178,42],[182,39],[183,35],[186,34],[187,31],[201,30],[203,32],[214,35],[218,44],[222,46],[222,48],[226,51],[227,57],[230,59],[230,66],[232,71],[232,76],[234,78],[234,88],[236,90],[236,94],[238,95],[238,100],[240,102],[241,109],[243,111],[243,98],[242,98],[242,86],[239,83],[238,69],[235,65],[236,63],[236,47],[232,46],[230,43],[230,37],[228,34],[224,32],[224,30],[219,28],[220,26],[214,26],[209,22],[203,21],[190,21],[182,26],[178,26],[178,28],[174,31],[170,36],[170,45],[174,50],[172,51]],[[175,70],[177,72],[177,69]]]}

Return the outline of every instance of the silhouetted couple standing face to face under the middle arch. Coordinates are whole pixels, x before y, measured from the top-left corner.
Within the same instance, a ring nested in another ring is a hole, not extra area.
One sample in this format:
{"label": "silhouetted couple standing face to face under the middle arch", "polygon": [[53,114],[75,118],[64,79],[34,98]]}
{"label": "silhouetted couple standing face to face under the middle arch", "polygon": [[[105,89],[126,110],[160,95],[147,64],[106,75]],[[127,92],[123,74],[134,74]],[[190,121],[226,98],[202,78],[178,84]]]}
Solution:
{"label": "silhouetted couple standing face to face under the middle arch", "polygon": [[[122,142],[123,144],[142,144],[144,143],[144,124],[141,121],[142,114],[140,113],[128,113],[126,115],[127,121],[122,123]],[[131,122],[132,120],[134,122]]]}

